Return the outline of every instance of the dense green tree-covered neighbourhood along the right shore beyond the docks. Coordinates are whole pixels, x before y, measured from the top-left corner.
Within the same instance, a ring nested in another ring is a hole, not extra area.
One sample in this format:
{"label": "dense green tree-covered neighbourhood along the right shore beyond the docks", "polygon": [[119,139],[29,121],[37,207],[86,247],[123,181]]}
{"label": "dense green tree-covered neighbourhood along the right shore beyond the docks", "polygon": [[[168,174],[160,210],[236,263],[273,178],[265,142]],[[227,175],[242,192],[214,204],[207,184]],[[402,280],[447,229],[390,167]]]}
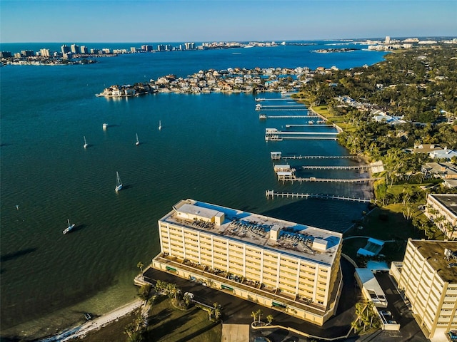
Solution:
{"label": "dense green tree-covered neighbourhood along the right shore beyond the docks", "polygon": [[[311,106],[326,105],[329,115],[343,120],[350,129],[338,141],[369,161],[382,160],[388,186],[423,181],[421,165],[431,160],[406,148],[438,144],[457,149],[456,48],[413,48],[388,54],[374,66],[322,71],[300,96]],[[372,120],[373,110],[403,116],[405,123]]]}

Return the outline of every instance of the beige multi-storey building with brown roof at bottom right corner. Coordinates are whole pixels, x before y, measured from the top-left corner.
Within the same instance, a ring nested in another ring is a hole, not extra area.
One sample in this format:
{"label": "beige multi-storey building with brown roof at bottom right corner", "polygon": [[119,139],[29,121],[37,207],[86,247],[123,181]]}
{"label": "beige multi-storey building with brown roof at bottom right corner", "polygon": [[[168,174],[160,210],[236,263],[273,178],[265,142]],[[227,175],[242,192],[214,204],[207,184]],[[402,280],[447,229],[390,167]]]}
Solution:
{"label": "beige multi-storey building with brown roof at bottom right corner", "polygon": [[426,337],[457,329],[457,242],[409,239],[396,277]]}

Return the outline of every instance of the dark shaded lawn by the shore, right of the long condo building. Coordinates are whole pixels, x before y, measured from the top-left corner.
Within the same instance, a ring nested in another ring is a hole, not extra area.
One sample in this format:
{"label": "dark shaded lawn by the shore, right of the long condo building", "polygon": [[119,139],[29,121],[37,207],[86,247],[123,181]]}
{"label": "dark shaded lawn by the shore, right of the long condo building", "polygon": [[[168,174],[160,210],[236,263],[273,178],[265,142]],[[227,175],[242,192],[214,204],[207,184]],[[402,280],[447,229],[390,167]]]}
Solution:
{"label": "dark shaded lawn by the shore, right of the long condo building", "polygon": [[[419,205],[419,204],[418,204]],[[416,206],[417,207],[417,206]],[[361,222],[363,229],[352,229],[344,234],[344,237],[363,236],[373,237],[386,242],[381,254],[386,256],[386,261],[401,261],[405,255],[406,242],[409,237],[412,239],[425,239],[425,234],[413,227],[411,221],[403,217],[402,204],[390,204],[387,207],[376,207]],[[423,215],[416,209],[413,217]],[[436,237],[439,239],[439,237]],[[366,245],[366,238],[347,239],[343,242],[343,253],[356,260],[359,248]]]}

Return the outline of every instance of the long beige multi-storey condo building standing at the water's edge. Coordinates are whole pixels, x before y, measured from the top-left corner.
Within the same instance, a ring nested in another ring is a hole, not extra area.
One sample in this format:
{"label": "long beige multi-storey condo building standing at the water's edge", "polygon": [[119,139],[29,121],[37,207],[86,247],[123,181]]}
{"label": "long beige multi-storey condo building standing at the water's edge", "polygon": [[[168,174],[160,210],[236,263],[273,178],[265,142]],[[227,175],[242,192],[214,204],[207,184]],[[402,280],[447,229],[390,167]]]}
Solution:
{"label": "long beige multi-storey condo building standing at the water's edge", "polygon": [[340,233],[186,199],[159,237],[156,269],[318,325],[336,312]]}

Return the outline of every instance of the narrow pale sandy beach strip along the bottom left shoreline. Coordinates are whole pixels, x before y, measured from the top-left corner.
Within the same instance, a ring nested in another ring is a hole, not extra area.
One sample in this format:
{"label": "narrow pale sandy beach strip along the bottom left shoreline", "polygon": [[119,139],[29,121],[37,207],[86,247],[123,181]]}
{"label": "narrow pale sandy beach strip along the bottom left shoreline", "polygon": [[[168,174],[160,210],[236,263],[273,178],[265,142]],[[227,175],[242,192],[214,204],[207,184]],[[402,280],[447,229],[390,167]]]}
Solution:
{"label": "narrow pale sandy beach strip along the bottom left shoreline", "polygon": [[89,331],[94,331],[99,328],[103,328],[112,321],[116,321],[116,319],[126,316],[127,314],[130,314],[132,311],[140,308],[143,304],[144,301],[141,301],[141,299],[132,301],[131,303],[121,306],[118,309],[109,312],[108,314],[97,317],[91,321],[87,321],[86,323],[81,324],[80,326],[75,326],[74,328],[62,331],[61,333],[58,333],[54,336],[43,338],[39,340],[39,342],[64,342],[69,341],[72,338],[82,337],[86,335],[86,333],[89,333]]}

